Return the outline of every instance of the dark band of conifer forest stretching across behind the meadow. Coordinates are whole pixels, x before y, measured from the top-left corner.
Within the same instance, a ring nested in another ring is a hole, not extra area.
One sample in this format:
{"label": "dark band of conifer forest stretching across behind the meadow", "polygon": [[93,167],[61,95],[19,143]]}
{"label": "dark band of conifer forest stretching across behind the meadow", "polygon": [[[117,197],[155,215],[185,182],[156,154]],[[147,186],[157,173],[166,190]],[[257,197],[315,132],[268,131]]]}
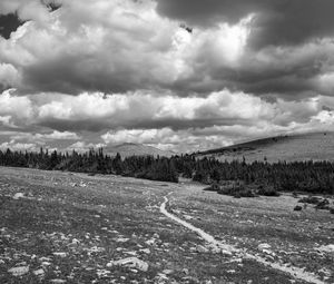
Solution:
{"label": "dark band of conifer forest stretching across behind the meadow", "polygon": [[178,183],[179,177],[206,185],[227,183],[283,192],[334,194],[334,163],[331,161],[219,161],[195,155],[173,157],[105,155],[102,149],[87,153],[0,150],[0,166],[28,167],[91,174],[114,174],[151,180]]}

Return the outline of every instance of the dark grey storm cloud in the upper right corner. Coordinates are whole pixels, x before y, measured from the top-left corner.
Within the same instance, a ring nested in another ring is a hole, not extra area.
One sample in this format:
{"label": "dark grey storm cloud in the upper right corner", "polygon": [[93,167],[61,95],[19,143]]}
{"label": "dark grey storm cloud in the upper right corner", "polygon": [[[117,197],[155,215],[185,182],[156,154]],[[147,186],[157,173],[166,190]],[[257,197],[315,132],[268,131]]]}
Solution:
{"label": "dark grey storm cloud in the upper right corner", "polygon": [[188,25],[210,28],[238,22],[253,13],[252,43],[256,47],[305,42],[334,32],[332,0],[157,0],[157,10]]}

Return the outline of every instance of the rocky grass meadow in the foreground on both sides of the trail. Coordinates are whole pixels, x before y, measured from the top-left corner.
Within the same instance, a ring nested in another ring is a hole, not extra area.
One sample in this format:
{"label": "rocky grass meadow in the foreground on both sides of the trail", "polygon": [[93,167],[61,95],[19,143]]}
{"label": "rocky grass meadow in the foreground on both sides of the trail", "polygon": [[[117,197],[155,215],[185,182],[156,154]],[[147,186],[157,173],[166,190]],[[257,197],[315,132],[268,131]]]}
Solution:
{"label": "rocky grass meadow in the foreground on both sides of the trail", "polygon": [[[203,187],[0,167],[0,283],[305,283],[212,251],[160,213],[167,194],[170,213],[216,239],[334,283],[334,215]],[[128,257],[137,263],[117,265]]]}

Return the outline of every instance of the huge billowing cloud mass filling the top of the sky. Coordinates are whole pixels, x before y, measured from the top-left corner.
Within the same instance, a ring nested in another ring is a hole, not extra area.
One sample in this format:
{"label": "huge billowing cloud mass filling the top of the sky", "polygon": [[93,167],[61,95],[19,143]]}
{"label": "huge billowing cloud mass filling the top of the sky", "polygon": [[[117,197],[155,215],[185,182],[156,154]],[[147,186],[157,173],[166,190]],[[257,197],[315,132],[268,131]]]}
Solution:
{"label": "huge billowing cloud mass filling the top of the sky", "polygon": [[[0,61],[10,68],[0,84],[20,94],[170,90],[205,97],[228,88],[289,100],[333,96],[334,26],[327,13],[317,14],[332,3],[304,2],[73,0],[49,12],[39,1],[4,1],[8,11],[38,4],[46,16],[0,39]],[[304,17],[299,6],[316,16]],[[193,32],[180,28],[184,17],[197,22]],[[295,27],[303,40],[289,42],[283,33]],[[272,37],[276,43],[254,48]]]}

